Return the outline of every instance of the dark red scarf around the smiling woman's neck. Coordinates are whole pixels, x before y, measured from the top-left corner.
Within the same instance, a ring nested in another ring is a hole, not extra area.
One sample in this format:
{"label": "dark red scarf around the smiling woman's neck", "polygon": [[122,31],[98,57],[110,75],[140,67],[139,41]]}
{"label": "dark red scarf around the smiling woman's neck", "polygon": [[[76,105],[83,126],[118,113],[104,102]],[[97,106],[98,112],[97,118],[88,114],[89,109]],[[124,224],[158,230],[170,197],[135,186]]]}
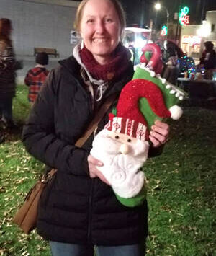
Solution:
{"label": "dark red scarf around the smiling woman's neck", "polygon": [[121,43],[112,53],[112,61],[105,65],[100,65],[92,55],[92,53],[84,46],[80,50],[81,61],[88,69],[94,79],[102,79],[104,81],[116,80],[123,71],[127,69],[130,61],[130,52]]}

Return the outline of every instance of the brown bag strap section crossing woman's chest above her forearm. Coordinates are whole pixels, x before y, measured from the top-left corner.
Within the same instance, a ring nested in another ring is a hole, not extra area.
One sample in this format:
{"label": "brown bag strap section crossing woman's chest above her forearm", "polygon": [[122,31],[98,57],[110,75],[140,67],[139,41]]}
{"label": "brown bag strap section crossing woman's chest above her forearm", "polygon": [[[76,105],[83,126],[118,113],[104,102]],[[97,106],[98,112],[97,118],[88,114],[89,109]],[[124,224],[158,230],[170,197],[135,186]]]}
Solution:
{"label": "brown bag strap section crossing woman's chest above her forearm", "polygon": [[112,105],[112,102],[117,98],[116,94],[112,94],[107,98],[107,100],[104,102],[104,104],[99,108],[99,111],[94,116],[94,119],[91,120],[91,123],[89,123],[88,128],[86,129],[86,132],[81,136],[81,138],[78,138],[78,141],[76,141],[75,146],[81,147],[84,145],[84,143],[87,141],[91,133],[94,132],[94,129],[99,124],[100,120],[102,120],[103,116],[109,109],[109,107]]}

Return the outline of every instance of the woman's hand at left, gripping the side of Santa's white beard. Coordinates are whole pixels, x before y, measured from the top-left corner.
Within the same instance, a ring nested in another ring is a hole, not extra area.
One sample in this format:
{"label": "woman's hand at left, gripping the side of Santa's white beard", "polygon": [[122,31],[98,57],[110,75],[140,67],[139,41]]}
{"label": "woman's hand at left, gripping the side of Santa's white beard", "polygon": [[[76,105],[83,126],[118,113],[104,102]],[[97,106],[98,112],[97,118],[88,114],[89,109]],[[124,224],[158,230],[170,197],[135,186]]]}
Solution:
{"label": "woman's hand at left, gripping the side of Santa's white beard", "polygon": [[107,183],[107,185],[110,185],[107,179],[102,175],[102,172],[99,171],[96,167],[102,167],[104,164],[100,162],[98,159],[94,158],[89,154],[88,156],[88,163],[89,163],[89,176],[91,178],[99,177],[102,182]]}

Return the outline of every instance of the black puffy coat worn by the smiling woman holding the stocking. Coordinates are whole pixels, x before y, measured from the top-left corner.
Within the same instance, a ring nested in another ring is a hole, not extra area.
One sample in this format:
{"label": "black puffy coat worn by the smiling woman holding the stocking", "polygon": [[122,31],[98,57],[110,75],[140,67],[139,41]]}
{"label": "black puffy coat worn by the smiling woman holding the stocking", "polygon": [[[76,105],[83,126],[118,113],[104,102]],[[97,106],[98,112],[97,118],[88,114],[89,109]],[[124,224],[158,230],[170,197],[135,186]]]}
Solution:
{"label": "black puffy coat worn by the smiling woman holding the stocking", "polygon": [[[38,233],[48,240],[74,244],[135,244],[147,235],[147,203],[128,208],[112,188],[89,177],[87,156],[93,136],[80,149],[76,140],[93,118],[81,66],[70,57],[50,72],[23,130],[23,141],[35,158],[58,169],[42,194]],[[104,98],[120,94],[132,79],[132,64]],[[104,128],[108,115],[99,123]]]}

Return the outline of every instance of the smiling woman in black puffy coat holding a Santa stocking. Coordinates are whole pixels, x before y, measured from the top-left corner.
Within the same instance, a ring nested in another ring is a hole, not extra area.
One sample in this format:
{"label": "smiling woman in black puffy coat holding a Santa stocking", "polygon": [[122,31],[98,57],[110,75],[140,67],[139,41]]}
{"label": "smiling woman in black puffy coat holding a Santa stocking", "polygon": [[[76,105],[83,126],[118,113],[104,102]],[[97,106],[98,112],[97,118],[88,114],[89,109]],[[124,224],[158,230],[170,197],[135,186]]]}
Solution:
{"label": "smiling woman in black puffy coat holding a Santa stocking", "polygon": [[[84,0],[76,14],[76,29],[83,40],[73,56],[50,72],[23,131],[27,150],[58,169],[43,193],[38,233],[50,241],[58,255],[141,255],[148,233],[147,203],[122,206],[89,155],[91,136],[82,148],[74,146],[112,94],[119,95],[132,79],[128,50],[120,43],[125,17],[117,0]],[[98,133],[108,121],[99,123]],[[154,147],[168,136],[168,125],[156,122],[150,132]]]}

